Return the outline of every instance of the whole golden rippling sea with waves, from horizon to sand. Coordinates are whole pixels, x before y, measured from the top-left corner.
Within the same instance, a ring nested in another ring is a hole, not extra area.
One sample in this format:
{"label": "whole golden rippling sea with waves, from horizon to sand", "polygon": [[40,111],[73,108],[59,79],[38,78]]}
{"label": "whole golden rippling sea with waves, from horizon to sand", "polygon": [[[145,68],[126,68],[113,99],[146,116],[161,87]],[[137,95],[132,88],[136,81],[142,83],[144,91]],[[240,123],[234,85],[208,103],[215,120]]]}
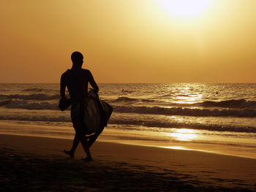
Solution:
{"label": "whole golden rippling sea with waves, from horizon to sand", "polygon": [[[102,142],[256,158],[256,84],[99,83],[99,97],[113,107]],[[0,123],[13,125],[0,134],[72,139],[59,99],[58,83],[0,84]]]}

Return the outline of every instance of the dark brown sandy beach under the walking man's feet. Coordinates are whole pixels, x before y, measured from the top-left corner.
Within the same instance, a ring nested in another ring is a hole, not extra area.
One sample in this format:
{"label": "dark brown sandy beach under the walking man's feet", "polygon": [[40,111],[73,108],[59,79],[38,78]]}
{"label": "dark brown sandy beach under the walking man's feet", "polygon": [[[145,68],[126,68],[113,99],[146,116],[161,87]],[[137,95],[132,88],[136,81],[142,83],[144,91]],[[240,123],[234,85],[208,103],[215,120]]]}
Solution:
{"label": "dark brown sandy beach under the walking man's feet", "polygon": [[70,139],[1,134],[1,191],[256,191],[256,160],[96,142],[85,163]]}

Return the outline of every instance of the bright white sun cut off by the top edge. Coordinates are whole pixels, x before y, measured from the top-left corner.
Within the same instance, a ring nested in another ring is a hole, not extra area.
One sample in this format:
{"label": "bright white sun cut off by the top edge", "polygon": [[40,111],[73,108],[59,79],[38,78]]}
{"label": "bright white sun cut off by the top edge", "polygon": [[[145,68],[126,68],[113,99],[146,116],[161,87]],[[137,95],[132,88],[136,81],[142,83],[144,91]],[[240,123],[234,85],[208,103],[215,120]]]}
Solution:
{"label": "bright white sun cut off by the top edge", "polygon": [[191,18],[206,11],[211,0],[160,0],[160,2],[172,15]]}

